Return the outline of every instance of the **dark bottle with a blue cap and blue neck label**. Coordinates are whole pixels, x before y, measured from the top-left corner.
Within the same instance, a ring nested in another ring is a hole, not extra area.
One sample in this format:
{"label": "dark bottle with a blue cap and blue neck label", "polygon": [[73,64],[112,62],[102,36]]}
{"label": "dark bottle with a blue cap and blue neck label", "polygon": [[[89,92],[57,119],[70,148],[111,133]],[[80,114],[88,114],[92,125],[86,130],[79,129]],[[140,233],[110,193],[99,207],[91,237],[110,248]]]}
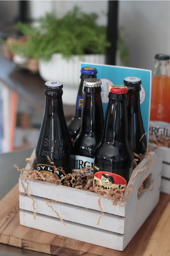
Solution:
{"label": "dark bottle with a blue cap and blue neck label", "polygon": [[88,78],[96,78],[97,69],[94,67],[82,67],[81,69],[81,81],[78,88],[77,94],[77,101],[76,101],[76,108],[73,118],[68,124],[70,137],[75,140],[77,134],[80,132],[80,124],[81,124],[81,113],[83,107],[83,98],[84,98],[84,91],[83,91],[83,82],[85,79]]}

